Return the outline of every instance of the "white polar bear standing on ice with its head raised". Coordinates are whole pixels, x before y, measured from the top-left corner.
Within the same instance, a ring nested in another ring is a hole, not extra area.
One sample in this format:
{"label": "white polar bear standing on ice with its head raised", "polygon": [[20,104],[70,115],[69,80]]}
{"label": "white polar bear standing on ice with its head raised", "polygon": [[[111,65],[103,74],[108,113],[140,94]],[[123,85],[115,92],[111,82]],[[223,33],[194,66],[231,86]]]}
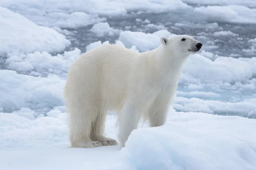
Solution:
{"label": "white polar bear standing on ice with its head raised", "polygon": [[142,53],[100,45],[70,66],[64,96],[71,147],[117,144],[104,134],[108,111],[119,117],[121,148],[141,117],[151,127],[164,124],[183,64],[202,44],[188,35],[160,41],[159,47]]}

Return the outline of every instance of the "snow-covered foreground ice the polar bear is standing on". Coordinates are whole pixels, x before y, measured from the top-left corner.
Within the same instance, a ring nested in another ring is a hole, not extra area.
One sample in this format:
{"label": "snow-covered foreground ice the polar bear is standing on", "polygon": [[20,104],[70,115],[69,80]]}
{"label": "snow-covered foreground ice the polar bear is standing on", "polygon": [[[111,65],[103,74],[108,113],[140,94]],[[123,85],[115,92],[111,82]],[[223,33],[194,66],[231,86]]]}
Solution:
{"label": "snow-covered foreground ice the polar bear is standing on", "polygon": [[[69,148],[64,113],[55,109],[54,116],[29,119],[24,116],[29,112],[0,113],[0,169],[254,170],[256,166],[252,135],[256,119],[170,109],[165,125],[139,127],[119,150],[118,146]],[[115,122],[116,117],[108,115],[106,135],[114,139]]]}

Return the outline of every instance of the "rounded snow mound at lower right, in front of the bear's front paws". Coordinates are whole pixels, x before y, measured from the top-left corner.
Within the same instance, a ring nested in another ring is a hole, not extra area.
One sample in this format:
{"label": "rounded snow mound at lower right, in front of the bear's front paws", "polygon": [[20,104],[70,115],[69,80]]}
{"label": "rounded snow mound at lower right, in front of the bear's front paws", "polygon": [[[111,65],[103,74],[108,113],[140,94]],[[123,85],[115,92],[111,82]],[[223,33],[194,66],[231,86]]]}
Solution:
{"label": "rounded snow mound at lower right, in front of the bear's front paws", "polygon": [[134,130],[121,151],[133,170],[255,170],[255,130],[255,119],[179,113]]}

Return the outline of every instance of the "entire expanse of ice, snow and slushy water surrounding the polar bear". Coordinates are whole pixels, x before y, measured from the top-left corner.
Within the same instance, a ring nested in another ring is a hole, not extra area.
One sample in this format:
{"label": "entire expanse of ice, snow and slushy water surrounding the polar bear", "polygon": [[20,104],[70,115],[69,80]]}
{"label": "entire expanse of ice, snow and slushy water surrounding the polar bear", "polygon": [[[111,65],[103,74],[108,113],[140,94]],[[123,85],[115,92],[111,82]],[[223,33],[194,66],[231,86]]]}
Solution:
{"label": "entire expanse of ice, snow and slushy water surrounding the polar bear", "polygon": [[[255,170],[255,28],[255,0],[0,0],[0,169]],[[134,130],[122,150],[69,148],[63,87],[79,55],[148,51],[175,34],[203,48],[166,124]]]}

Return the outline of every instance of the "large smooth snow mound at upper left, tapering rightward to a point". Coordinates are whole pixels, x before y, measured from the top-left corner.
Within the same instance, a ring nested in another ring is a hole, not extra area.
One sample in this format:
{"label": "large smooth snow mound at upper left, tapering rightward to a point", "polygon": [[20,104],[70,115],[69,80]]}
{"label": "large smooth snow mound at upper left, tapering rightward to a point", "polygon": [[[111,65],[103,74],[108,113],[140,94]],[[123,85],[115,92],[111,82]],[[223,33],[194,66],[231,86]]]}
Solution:
{"label": "large smooth snow mound at upper left, tapering rightward to a point", "polygon": [[63,51],[71,42],[57,31],[37,26],[20,14],[0,6],[0,54]]}

